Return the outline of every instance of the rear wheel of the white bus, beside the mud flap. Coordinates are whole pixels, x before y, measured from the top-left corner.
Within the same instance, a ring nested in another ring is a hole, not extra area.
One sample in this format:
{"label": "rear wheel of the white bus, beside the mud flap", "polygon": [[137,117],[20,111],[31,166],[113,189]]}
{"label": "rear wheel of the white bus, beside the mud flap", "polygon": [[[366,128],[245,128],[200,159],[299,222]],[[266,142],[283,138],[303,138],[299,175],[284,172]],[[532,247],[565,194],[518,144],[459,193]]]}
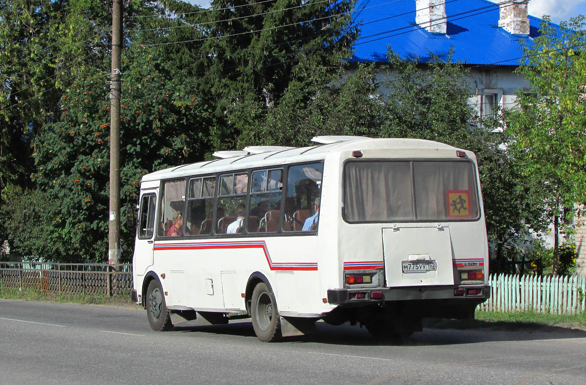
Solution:
{"label": "rear wheel of the white bus, beside the mud flap", "polygon": [[250,313],[254,333],[260,341],[275,342],[281,339],[281,318],[277,310],[277,301],[264,282],[254,287]]}

